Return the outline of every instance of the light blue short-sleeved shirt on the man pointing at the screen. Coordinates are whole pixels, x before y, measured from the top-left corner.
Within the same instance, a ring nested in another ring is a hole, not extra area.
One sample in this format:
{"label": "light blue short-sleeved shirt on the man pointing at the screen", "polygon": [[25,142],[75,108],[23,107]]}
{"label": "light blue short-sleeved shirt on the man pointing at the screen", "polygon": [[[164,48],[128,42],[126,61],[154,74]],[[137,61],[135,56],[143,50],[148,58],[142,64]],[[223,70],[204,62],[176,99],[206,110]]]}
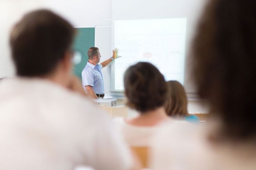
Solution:
{"label": "light blue short-sleeved shirt on the man pointing at the screen", "polygon": [[85,68],[82,71],[82,82],[84,89],[85,86],[92,86],[96,94],[104,94],[104,82],[101,70],[101,64],[93,65],[87,62]]}

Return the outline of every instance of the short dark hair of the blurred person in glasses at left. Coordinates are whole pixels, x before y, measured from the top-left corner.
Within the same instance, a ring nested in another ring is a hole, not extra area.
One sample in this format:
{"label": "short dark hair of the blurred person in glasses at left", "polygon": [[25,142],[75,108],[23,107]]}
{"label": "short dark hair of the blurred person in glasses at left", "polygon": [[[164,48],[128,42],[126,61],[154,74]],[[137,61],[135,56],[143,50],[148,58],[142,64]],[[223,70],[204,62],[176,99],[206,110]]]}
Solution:
{"label": "short dark hair of the blurred person in glasses at left", "polygon": [[49,10],[25,14],[10,35],[17,75],[33,77],[52,72],[71,47],[73,35],[71,24]]}

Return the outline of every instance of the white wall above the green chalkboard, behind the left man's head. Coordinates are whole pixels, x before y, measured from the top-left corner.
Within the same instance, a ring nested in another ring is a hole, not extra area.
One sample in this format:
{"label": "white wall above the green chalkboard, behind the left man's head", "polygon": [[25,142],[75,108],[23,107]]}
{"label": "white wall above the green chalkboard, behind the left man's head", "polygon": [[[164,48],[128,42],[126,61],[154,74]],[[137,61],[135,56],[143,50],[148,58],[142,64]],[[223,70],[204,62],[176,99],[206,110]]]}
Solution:
{"label": "white wall above the green chalkboard, behind the left man's head", "polygon": [[15,73],[8,47],[9,30],[23,14],[38,8],[54,10],[75,27],[111,24],[111,0],[0,0],[0,77]]}

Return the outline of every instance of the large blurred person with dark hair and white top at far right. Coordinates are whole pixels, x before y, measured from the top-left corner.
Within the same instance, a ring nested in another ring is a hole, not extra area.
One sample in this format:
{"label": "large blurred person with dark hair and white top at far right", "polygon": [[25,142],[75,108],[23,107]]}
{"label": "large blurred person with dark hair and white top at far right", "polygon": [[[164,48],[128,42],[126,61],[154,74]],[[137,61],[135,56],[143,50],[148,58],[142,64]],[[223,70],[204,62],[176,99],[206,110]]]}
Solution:
{"label": "large blurred person with dark hair and white top at far right", "polygon": [[211,0],[193,44],[197,91],[215,120],[156,138],[154,170],[256,169],[256,1]]}

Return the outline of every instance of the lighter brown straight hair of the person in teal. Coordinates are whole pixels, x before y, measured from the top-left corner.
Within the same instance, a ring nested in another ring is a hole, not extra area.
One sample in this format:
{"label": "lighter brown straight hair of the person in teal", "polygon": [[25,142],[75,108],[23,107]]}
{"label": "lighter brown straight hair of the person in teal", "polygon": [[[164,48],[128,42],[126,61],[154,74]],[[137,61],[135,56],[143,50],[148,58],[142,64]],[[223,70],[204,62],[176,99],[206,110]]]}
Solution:
{"label": "lighter brown straight hair of the person in teal", "polygon": [[166,113],[169,116],[187,116],[187,95],[183,85],[175,80],[166,83],[168,86]]}

